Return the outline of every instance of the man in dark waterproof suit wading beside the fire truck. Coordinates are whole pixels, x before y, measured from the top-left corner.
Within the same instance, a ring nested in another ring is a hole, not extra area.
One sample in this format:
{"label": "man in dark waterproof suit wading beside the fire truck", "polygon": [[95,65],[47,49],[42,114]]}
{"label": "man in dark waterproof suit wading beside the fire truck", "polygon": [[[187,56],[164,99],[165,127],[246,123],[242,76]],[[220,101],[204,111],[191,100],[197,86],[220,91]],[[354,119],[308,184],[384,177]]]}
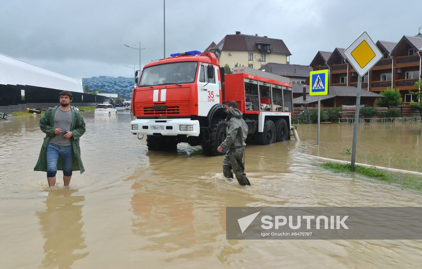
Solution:
{"label": "man in dark waterproof suit wading beside the fire truck", "polygon": [[249,183],[249,179],[244,173],[245,163],[242,160],[246,146],[245,141],[248,136],[248,125],[246,125],[242,118],[242,112],[237,107],[235,101],[230,101],[226,105],[227,136],[217,150],[222,152],[225,148],[228,148],[226,158],[223,161],[224,176],[231,179],[234,173],[240,185],[250,186],[251,183]]}

